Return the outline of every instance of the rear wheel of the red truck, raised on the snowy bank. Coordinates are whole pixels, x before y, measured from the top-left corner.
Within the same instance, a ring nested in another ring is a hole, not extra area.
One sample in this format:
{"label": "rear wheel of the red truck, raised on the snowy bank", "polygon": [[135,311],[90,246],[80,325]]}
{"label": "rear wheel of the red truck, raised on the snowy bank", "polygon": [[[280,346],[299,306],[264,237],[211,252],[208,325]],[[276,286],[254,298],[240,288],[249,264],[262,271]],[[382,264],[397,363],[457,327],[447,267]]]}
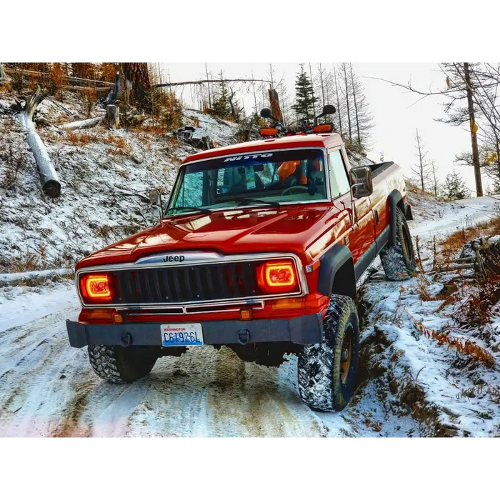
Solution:
{"label": "rear wheel of the red truck, raised on the snowy bank", "polygon": [[410,229],[406,217],[399,207],[396,208],[396,244],[382,249],[380,260],[387,279],[391,281],[408,279],[416,269]]}

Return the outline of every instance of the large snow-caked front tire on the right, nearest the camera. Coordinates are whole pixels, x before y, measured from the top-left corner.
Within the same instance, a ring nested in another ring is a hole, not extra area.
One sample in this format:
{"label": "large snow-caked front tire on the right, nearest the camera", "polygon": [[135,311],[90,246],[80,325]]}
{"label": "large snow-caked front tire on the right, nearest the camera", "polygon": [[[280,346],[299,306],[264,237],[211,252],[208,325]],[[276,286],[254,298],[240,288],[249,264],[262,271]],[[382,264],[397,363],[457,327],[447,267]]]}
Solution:
{"label": "large snow-caked front tire on the right, nearest the camera", "polygon": [[321,344],[299,353],[299,394],[316,411],[341,411],[354,393],[359,360],[359,319],[350,297],[332,295]]}

